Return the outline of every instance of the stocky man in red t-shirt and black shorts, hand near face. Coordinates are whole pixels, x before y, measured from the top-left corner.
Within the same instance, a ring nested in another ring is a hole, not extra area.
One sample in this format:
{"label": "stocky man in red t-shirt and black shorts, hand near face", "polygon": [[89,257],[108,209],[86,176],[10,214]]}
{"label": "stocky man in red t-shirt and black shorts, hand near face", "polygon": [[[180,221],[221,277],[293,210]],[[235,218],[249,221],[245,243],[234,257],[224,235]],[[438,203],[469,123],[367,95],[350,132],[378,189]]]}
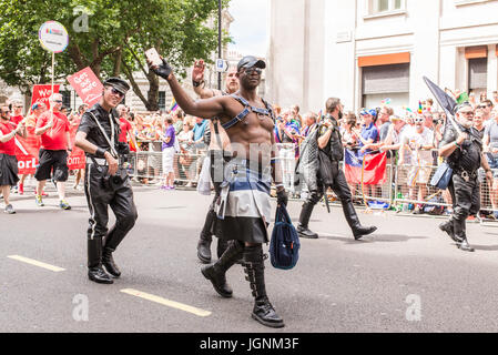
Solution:
{"label": "stocky man in red t-shirt and black shorts, hand near face", "polygon": [[71,210],[65,201],[65,181],[68,181],[68,155],[72,151],[70,144],[70,124],[65,114],[61,113],[62,94],[54,93],[49,98],[50,111],[44,112],[37,121],[34,134],[41,136],[39,164],[34,172],[38,181],[35,203],[44,206],[42,191],[47,180],[51,179],[59,194],[59,207]]}

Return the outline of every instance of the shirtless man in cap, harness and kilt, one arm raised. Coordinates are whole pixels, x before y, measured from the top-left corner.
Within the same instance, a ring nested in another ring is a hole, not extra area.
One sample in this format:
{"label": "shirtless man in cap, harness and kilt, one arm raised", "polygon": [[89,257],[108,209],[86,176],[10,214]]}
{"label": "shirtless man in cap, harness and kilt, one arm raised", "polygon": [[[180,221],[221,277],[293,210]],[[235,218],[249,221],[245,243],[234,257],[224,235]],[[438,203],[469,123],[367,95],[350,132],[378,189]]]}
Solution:
{"label": "shirtless man in cap, harness and kilt, one arm raised", "polygon": [[225,274],[242,256],[246,280],[255,297],[252,317],[265,326],[283,327],[284,322],[266,294],[262,247],[263,243],[268,242],[266,229],[272,219],[272,178],[276,184],[277,204],[287,204],[280,162],[275,161],[273,109],[257,95],[265,68],[264,61],[252,55],[244,57],[237,64],[240,90],[235,94],[194,101],[182,89],[164,59],[161,65],[151,65],[152,71],[167,81],[185,113],[210,120],[220,118],[232,149],[237,152],[225,165],[224,172],[214,174],[216,182],[223,182],[215,206],[216,224],[221,227],[221,237],[233,242],[214,264],[202,267],[202,274],[222,297],[232,297],[233,291]]}

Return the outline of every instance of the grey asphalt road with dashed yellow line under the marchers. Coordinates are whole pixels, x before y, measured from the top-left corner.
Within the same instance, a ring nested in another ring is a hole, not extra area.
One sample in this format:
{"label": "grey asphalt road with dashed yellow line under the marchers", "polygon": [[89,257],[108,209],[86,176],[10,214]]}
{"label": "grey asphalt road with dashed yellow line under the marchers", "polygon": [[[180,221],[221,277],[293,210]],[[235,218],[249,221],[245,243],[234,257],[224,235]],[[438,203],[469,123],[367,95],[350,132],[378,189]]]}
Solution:
{"label": "grey asphalt road with dashed yellow line under the marchers", "polygon": [[[113,285],[87,278],[81,193],[69,196],[72,211],[54,197],[42,209],[32,196],[12,200],[18,214],[0,215],[0,332],[498,332],[491,226],[469,224],[477,251],[464,253],[439,232],[440,220],[360,212],[379,230],[355,242],[339,207],[317,207],[312,227],[322,237],[302,240],[297,267],[266,265],[270,298],[286,323],[274,331],[251,318],[241,266],[227,274],[231,300],[200,273],[195,246],[209,196],[136,187],[139,220],[115,253],[123,275]],[[299,206],[289,203],[294,221]]]}

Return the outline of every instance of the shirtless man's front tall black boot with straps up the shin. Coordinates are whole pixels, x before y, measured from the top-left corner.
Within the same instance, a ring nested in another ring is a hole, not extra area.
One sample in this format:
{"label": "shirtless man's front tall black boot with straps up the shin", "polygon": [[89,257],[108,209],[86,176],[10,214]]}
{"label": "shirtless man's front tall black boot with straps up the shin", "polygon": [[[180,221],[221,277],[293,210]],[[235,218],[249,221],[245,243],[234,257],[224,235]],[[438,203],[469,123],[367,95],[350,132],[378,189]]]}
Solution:
{"label": "shirtless man's front tall black boot with straps up the shin", "polygon": [[244,266],[247,274],[245,278],[250,282],[255,298],[251,316],[263,325],[273,328],[284,327],[284,321],[276,314],[266,295],[265,265],[261,244],[244,248]]}

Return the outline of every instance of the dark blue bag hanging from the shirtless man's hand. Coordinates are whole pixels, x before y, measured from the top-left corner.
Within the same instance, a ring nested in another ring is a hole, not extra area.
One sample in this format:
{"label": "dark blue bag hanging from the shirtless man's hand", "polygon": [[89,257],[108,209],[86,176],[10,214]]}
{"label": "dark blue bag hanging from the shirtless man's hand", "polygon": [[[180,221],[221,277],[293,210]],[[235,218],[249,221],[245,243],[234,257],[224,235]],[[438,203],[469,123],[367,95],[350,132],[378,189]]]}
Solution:
{"label": "dark blue bag hanging from the shirtless man's hand", "polygon": [[273,267],[291,270],[299,258],[299,236],[291,222],[287,210],[281,205],[276,209],[275,226],[270,241],[270,261]]}

